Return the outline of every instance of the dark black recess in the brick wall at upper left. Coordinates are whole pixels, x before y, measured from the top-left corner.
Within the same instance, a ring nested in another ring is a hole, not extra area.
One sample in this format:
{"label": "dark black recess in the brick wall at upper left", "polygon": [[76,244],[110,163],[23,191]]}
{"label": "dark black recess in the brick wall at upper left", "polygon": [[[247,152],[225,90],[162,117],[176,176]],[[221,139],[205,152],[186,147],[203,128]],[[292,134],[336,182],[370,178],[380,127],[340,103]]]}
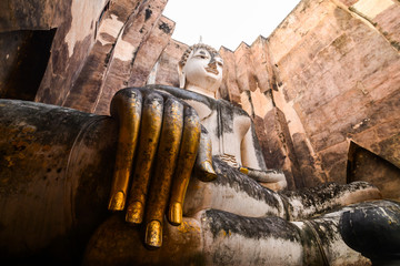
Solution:
{"label": "dark black recess in the brick wall at upper left", "polygon": [[0,33],[0,98],[34,100],[56,30]]}

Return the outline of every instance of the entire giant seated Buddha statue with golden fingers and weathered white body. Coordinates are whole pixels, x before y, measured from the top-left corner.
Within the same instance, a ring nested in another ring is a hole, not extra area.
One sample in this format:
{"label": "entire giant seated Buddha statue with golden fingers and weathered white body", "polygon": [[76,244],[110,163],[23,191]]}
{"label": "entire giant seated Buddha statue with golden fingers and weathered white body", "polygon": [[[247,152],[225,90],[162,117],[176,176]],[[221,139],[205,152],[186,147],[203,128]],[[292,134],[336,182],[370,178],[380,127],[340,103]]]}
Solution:
{"label": "entire giant seated Buddha statue with golden fingers and weathered white body", "polygon": [[216,99],[218,52],[193,45],[178,69],[181,88],[123,89],[111,116],[0,100],[1,258],[369,265],[396,256],[398,203],[363,182],[284,191],[249,115]]}

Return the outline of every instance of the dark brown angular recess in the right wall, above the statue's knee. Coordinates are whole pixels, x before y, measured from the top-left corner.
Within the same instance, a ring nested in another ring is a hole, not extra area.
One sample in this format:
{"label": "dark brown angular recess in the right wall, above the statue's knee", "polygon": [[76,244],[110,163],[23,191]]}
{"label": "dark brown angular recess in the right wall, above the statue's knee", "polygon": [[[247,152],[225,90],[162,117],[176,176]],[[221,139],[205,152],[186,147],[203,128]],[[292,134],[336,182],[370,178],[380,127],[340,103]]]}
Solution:
{"label": "dark brown angular recess in the right wall, above the statue's knee", "polygon": [[351,142],[347,183],[353,181],[370,182],[381,191],[383,198],[400,201],[400,168]]}

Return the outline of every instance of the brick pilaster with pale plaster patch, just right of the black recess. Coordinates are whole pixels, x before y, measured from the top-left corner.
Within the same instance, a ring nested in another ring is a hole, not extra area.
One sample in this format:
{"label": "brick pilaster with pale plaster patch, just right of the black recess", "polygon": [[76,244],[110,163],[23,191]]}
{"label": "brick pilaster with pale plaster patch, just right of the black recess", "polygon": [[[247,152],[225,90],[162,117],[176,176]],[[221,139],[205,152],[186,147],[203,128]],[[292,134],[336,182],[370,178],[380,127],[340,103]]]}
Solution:
{"label": "brick pilaster with pale plaster patch, just right of the black recess", "polygon": [[54,14],[64,16],[59,17],[59,25],[53,25],[57,27],[57,32],[36,101],[63,105],[94,43],[97,21],[107,0],[60,0],[53,4],[51,1],[46,3],[53,7]]}

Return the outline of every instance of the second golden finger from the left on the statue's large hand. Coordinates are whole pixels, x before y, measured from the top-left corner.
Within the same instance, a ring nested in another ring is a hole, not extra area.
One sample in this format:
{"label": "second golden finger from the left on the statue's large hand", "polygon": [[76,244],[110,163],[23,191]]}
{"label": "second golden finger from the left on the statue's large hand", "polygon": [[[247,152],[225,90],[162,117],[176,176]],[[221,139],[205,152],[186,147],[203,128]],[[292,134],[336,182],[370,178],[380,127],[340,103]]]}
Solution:
{"label": "second golden finger from the left on the statue's large hand", "polygon": [[143,221],[151,166],[161,132],[162,111],[162,96],[157,93],[148,94],[143,100],[138,155],[126,215],[126,221],[133,224]]}

